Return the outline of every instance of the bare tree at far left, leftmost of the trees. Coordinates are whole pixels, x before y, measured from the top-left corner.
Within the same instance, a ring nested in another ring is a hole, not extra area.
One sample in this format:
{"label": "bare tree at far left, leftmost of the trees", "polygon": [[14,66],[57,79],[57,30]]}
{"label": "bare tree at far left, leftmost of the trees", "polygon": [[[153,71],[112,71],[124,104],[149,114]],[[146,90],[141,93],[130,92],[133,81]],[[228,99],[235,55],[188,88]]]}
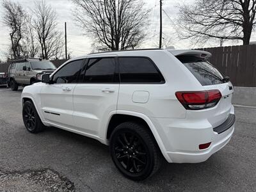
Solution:
{"label": "bare tree at far left, leftmost of the trees", "polygon": [[3,22],[10,28],[10,38],[12,42],[12,58],[21,56],[22,47],[20,40],[22,39],[22,26],[24,24],[25,12],[19,3],[4,0],[4,17]]}

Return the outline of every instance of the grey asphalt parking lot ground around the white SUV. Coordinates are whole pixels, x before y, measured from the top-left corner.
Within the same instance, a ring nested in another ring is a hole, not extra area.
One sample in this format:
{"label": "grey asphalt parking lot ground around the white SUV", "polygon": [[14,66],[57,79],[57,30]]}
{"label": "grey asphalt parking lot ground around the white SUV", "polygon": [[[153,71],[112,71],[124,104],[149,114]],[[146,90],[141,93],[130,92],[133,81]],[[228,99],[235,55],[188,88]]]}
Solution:
{"label": "grey asphalt parking lot ground around the white SUV", "polygon": [[134,182],[98,141],[54,127],[26,131],[21,92],[0,87],[0,191],[256,191],[256,108],[236,107],[232,140],[206,162],[164,163]]}

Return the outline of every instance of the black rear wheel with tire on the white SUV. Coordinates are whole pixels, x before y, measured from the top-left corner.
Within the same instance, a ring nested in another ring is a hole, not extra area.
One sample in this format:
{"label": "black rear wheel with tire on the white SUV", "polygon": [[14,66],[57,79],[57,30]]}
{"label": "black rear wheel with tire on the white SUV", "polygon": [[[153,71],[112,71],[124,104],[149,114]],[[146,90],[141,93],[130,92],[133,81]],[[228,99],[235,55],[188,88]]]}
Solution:
{"label": "black rear wheel with tire on the white SUV", "polygon": [[118,125],[111,134],[109,147],[116,168],[129,179],[147,179],[161,166],[156,141],[146,127],[136,122]]}

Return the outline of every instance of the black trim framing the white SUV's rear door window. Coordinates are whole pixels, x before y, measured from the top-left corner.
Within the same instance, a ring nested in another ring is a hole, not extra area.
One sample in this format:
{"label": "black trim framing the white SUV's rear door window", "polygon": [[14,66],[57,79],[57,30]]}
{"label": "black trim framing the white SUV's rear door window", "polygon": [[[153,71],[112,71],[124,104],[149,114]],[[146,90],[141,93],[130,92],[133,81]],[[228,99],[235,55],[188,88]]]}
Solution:
{"label": "black trim framing the white SUV's rear door window", "polygon": [[[82,68],[81,71],[83,71],[84,68],[87,68],[89,60],[99,59],[99,58],[101,58],[101,59],[103,59],[103,58],[113,58],[115,60],[115,70],[114,70],[113,82],[111,82],[111,83],[109,83],[109,82],[106,82],[106,83],[77,82],[77,84],[119,84],[118,68],[117,68],[117,56],[95,56],[95,57],[86,58],[85,63],[83,65],[83,68]],[[83,75],[83,80],[84,80],[85,74],[86,74],[86,70],[85,70],[84,75]],[[78,79],[77,79],[77,81],[78,81]]]}

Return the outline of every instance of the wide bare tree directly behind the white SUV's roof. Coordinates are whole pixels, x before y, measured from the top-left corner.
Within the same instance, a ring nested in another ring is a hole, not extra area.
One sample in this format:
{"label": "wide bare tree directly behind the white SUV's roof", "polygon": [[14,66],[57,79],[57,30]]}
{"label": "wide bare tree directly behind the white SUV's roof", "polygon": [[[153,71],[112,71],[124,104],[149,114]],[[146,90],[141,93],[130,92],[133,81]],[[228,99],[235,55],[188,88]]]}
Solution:
{"label": "wide bare tree directly behind the white SUV's roof", "polygon": [[97,49],[134,49],[145,37],[148,12],[141,0],[72,1],[77,24],[96,40]]}

